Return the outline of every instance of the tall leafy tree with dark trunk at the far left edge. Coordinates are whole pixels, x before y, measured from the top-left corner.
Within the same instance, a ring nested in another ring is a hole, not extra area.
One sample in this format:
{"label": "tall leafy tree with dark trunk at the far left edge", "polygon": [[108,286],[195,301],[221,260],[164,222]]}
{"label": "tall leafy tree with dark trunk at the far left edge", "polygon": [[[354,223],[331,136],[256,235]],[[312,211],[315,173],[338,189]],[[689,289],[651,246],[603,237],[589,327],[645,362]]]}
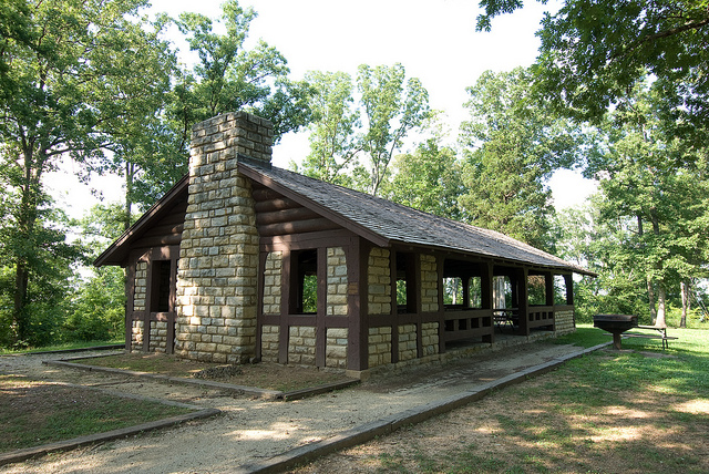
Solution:
{"label": "tall leafy tree with dark trunk at the far left edge", "polygon": [[[144,4],[12,0],[0,7],[0,30],[9,33],[0,40],[0,166],[13,203],[6,230],[14,243],[4,251],[14,271],[12,315],[20,339],[31,322],[31,289],[52,270],[35,265],[51,234],[42,177],[60,157],[91,163],[112,143],[110,125],[121,120],[116,107],[132,109],[116,87],[135,76],[124,65],[146,53],[136,49],[153,48],[129,18]],[[144,86],[150,89],[148,80]]]}

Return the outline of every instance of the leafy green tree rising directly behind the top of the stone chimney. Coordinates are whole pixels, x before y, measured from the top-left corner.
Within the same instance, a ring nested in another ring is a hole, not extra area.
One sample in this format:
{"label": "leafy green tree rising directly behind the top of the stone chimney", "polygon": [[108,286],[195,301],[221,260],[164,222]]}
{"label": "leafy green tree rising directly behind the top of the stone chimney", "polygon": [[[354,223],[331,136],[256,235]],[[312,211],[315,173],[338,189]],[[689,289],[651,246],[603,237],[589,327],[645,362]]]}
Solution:
{"label": "leafy green tree rising directly behind the top of the stone chimney", "polygon": [[220,113],[250,109],[274,123],[276,142],[310,120],[311,89],[305,81],[288,79],[282,54],[263,40],[245,49],[249,24],[257,17],[254,9],[229,0],[222,10],[219,25],[225,34],[215,33],[214,21],[199,13],[182,13],[174,20],[199,58],[192,71],[182,73],[169,109],[176,143],[185,156],[192,125]]}

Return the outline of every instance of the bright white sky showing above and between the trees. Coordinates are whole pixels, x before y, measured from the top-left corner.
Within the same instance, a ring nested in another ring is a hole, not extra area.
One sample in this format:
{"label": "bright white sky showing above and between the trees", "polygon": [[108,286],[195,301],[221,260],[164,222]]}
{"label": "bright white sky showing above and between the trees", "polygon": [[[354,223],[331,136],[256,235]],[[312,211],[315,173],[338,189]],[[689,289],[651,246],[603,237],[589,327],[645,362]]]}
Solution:
{"label": "bright white sky showing above and between the trees", "polygon": [[[210,18],[220,14],[220,0],[153,0],[155,12],[176,17],[196,11]],[[535,31],[544,11],[558,8],[527,0],[514,14],[493,20],[492,32],[476,33],[477,0],[242,0],[258,17],[251,22],[249,41],[265,40],[288,60],[291,79],[307,71],[343,71],[352,78],[360,64],[391,65],[400,62],[408,76],[419,78],[429,91],[433,109],[445,113],[455,140],[466,118],[465,87],[485,70],[508,71],[527,66],[536,58]],[[198,6],[198,8],[196,8]],[[186,44],[177,43],[183,61],[189,61]],[[274,164],[287,167],[308,153],[304,133],[286,135],[274,148]],[[79,217],[93,203],[88,186],[69,184],[71,166],[50,176],[60,205]],[[594,190],[577,173],[561,172],[549,182],[557,208],[580,204]],[[109,199],[120,199],[120,182],[94,179],[93,186]],[[64,189],[64,190],[61,190]]]}

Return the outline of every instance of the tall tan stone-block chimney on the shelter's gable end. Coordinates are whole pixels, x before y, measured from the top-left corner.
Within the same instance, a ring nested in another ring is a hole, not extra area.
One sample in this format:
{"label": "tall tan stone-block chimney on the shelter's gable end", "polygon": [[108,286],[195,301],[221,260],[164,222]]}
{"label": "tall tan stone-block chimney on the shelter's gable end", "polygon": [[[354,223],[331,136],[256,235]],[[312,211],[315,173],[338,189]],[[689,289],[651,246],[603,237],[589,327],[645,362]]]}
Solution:
{"label": "tall tan stone-block chimney on the shelter's gable end", "polygon": [[179,247],[175,353],[219,363],[256,357],[258,233],[239,162],[270,166],[273,125],[246,112],[196,124]]}

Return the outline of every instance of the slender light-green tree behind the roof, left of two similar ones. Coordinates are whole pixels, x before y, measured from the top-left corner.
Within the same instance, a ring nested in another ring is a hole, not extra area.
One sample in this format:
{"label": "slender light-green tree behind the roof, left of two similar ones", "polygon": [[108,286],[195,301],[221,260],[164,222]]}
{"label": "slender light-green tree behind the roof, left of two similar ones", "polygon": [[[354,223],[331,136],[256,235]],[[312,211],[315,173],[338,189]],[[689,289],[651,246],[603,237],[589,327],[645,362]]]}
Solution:
{"label": "slender light-green tree behind the roof, left of two similar ones", "polygon": [[343,72],[314,71],[306,81],[315,93],[310,99],[310,154],[301,171],[327,183],[351,186],[348,172],[360,152],[354,136],[360,118],[359,110],[353,109],[352,79]]}

